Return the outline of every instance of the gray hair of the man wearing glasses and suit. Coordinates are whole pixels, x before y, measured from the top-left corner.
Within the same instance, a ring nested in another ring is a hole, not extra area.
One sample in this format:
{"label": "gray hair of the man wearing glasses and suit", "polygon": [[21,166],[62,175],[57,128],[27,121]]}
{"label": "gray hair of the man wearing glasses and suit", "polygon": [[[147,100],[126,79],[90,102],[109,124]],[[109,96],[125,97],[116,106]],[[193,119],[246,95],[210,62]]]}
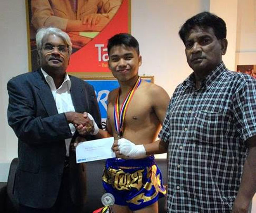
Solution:
{"label": "gray hair of the man wearing glasses and suit", "polygon": [[66,44],[68,49],[68,55],[72,53],[72,43],[67,33],[56,27],[40,28],[36,33],[36,47],[37,51],[41,50],[43,38],[45,36],[55,35],[60,37]]}

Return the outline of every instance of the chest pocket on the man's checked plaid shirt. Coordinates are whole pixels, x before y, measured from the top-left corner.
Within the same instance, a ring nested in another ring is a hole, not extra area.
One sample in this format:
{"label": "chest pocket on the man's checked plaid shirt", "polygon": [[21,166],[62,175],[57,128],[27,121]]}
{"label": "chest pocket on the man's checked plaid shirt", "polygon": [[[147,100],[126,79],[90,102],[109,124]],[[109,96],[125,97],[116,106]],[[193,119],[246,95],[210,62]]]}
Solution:
{"label": "chest pocket on the man's checked plaid shirt", "polygon": [[223,140],[223,112],[200,110],[195,113],[191,127],[191,140],[206,144],[220,144]]}

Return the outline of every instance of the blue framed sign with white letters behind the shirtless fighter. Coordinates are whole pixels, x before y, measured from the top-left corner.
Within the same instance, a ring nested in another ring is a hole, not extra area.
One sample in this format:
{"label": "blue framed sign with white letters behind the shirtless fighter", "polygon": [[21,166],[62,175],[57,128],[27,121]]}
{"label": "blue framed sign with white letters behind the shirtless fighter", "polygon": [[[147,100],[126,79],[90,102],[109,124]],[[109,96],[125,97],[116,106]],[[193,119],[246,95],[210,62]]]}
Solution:
{"label": "blue framed sign with white letters behind the shirtless fighter", "polygon": [[[102,127],[106,127],[107,119],[107,96],[110,91],[119,87],[118,80],[114,77],[88,77],[80,76],[81,79],[91,84],[95,89],[95,94],[100,107],[102,117]],[[154,76],[141,76],[142,80],[154,83]]]}

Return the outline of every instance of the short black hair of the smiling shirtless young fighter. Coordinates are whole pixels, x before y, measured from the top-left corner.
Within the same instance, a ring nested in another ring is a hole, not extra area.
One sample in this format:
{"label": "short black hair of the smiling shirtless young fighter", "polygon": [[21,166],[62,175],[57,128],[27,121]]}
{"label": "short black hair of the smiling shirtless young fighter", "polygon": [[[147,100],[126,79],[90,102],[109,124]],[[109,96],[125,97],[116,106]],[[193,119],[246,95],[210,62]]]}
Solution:
{"label": "short black hair of the smiling shirtless young fighter", "polygon": [[113,46],[121,46],[121,45],[135,48],[138,55],[140,55],[140,48],[139,48],[138,41],[129,33],[119,33],[112,36],[107,43],[107,53],[109,54]]}

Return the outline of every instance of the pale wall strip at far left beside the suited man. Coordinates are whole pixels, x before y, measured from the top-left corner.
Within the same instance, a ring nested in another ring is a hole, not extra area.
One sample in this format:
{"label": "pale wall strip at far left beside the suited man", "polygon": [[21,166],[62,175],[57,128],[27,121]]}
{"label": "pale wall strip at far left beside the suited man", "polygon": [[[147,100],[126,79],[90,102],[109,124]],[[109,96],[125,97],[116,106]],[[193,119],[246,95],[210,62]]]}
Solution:
{"label": "pale wall strip at far left beside the suited man", "polygon": [[0,1],[0,181],[7,180],[9,163],[17,156],[17,139],[7,124],[7,81],[28,70],[25,1]]}

